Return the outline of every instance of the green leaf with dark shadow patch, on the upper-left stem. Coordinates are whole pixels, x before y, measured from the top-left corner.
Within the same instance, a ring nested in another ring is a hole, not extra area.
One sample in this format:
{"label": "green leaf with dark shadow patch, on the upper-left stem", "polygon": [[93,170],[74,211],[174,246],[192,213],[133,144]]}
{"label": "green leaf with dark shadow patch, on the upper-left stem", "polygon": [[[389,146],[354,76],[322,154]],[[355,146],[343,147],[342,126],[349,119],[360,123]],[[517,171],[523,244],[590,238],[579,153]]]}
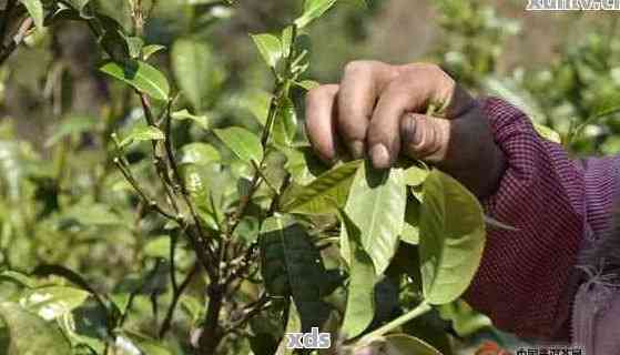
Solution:
{"label": "green leaf with dark shadow patch, on the upper-left stem", "polygon": [[170,84],[159,70],[145,62],[128,60],[124,63],[109,61],[100,70],[133,87],[155,100],[166,101]]}

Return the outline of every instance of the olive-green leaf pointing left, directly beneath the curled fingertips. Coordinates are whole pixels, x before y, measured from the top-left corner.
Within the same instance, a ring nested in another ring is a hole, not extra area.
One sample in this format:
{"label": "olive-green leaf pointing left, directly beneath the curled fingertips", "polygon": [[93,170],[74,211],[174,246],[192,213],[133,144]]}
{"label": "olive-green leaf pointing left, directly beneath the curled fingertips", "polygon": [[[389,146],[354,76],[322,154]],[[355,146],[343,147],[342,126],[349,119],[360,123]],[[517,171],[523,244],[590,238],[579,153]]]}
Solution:
{"label": "olive-green leaf pointing left, directly beneath the curled fingertips", "polygon": [[308,185],[295,189],[282,204],[282,211],[302,214],[326,214],[346,203],[353,178],[360,161],[334,168]]}

